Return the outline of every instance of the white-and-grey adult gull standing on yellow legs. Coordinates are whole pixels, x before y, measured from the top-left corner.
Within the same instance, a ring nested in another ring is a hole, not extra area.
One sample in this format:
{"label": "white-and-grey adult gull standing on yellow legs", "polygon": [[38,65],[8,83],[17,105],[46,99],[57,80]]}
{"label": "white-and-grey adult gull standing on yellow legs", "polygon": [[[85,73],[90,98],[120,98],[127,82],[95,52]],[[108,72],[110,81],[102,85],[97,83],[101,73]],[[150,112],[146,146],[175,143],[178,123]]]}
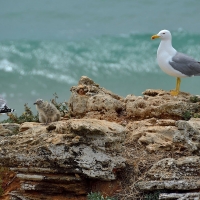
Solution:
{"label": "white-and-grey adult gull standing on yellow legs", "polygon": [[171,90],[172,96],[180,91],[181,78],[200,76],[200,62],[190,56],[176,51],[172,47],[172,35],[168,30],[162,30],[151,37],[152,40],[160,38],[157,50],[157,62],[160,68],[168,75],[176,77],[176,88]]}

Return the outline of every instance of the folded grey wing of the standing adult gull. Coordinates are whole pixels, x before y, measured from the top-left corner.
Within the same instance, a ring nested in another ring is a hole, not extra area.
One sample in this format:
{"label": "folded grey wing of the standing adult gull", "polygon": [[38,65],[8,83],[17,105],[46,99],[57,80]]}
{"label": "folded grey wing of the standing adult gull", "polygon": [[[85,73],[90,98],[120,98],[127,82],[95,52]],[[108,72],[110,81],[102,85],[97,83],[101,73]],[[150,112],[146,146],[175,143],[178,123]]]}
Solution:
{"label": "folded grey wing of the standing adult gull", "polygon": [[177,52],[169,64],[187,76],[200,76],[200,62],[183,53]]}

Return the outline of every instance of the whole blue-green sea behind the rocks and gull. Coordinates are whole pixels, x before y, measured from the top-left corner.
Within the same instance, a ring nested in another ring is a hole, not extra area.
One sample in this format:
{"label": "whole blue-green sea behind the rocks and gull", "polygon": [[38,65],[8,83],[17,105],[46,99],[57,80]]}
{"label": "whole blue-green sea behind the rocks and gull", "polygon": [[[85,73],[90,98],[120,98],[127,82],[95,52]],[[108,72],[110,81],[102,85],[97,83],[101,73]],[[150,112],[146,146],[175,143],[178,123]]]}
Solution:
{"label": "whole blue-green sea behind the rocks and gull", "polygon": [[[174,48],[200,61],[199,8],[199,0],[1,1],[0,95],[21,115],[25,103],[36,112],[38,98],[68,101],[81,76],[122,97],[174,89],[151,36],[170,30]],[[181,91],[200,95],[200,77],[183,78]]]}

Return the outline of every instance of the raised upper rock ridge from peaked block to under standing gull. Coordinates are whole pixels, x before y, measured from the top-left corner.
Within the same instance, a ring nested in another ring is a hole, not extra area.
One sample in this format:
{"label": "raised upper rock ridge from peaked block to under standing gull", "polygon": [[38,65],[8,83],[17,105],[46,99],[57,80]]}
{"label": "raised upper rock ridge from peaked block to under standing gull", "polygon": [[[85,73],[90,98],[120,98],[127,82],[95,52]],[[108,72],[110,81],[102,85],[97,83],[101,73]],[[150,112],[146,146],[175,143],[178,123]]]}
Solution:
{"label": "raised upper rock ridge from peaked block to under standing gull", "polygon": [[127,95],[123,98],[100,87],[86,76],[81,77],[71,92],[69,111],[72,116],[80,118],[116,122],[150,118],[179,120],[185,112],[200,112],[199,102],[191,101],[188,93],[182,92],[173,97],[163,90],[148,89],[143,92],[143,96]]}

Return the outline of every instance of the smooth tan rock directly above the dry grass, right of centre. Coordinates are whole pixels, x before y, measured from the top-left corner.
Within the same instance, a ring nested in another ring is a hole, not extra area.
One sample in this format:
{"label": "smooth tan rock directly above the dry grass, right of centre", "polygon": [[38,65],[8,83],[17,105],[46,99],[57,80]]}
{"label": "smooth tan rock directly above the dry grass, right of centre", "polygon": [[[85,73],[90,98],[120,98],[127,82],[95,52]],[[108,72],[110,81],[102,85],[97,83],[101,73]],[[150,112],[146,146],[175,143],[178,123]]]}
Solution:
{"label": "smooth tan rock directly above the dry grass, right of centre", "polygon": [[146,146],[149,152],[170,150],[173,135],[177,131],[175,121],[156,118],[129,122],[126,126],[129,142],[138,141]]}

